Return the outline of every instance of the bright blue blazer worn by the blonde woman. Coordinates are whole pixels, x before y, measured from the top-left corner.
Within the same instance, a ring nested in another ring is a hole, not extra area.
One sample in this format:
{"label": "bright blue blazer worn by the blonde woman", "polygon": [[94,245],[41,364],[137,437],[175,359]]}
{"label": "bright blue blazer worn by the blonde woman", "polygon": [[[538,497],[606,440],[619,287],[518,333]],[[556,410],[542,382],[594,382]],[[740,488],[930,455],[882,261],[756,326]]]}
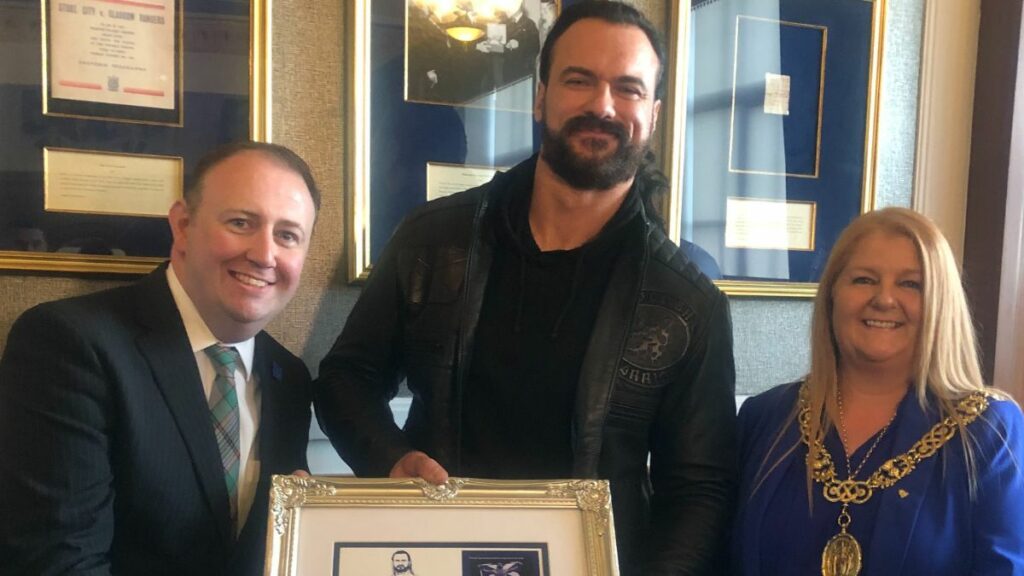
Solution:
{"label": "bright blue blazer worn by the blonde woman", "polygon": [[[799,389],[799,382],[772,388],[748,400],[739,411],[741,475],[733,530],[736,574],[761,574],[758,527],[784,470],[794,458],[803,465],[807,455],[791,418]],[[915,399],[909,399],[902,418],[893,455],[909,449],[939,419],[934,410],[922,410]],[[783,425],[781,440],[772,450]],[[1021,411],[1012,402],[989,399],[988,409],[968,429],[976,458],[976,497],[970,495],[964,448],[957,435],[939,454],[919,463],[895,486],[876,493],[873,497],[882,501],[870,542],[861,542],[861,576],[1024,575]],[[767,478],[757,478],[766,457],[774,463],[798,443],[800,446]],[[761,485],[755,491],[758,482]]]}

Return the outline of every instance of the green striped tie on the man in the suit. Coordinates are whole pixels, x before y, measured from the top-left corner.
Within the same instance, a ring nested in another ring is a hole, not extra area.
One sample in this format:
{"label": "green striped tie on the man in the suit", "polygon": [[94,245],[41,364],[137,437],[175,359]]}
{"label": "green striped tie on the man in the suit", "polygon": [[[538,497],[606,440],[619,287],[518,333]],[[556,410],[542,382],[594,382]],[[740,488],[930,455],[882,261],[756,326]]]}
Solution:
{"label": "green striped tie on the man in the suit", "polygon": [[241,359],[233,346],[213,344],[203,352],[217,370],[210,390],[210,419],[224,465],[224,483],[234,524],[239,517],[239,395],[234,392],[234,367]]}

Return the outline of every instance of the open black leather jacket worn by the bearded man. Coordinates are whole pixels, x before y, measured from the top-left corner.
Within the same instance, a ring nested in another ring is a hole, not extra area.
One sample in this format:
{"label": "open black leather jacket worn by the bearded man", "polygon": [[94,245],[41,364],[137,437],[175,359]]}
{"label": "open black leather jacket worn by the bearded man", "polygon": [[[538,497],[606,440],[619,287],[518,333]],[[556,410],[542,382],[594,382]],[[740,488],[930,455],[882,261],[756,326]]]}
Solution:
{"label": "open black leather jacket worn by the bearded man", "polygon": [[[426,204],[385,248],[316,383],[321,425],[356,475],[387,476],[413,449],[459,475],[461,390],[494,246],[484,216],[500,195],[524,193],[510,184],[531,182],[535,166]],[[623,574],[717,574],[736,476],[728,301],[643,217],[584,357],[573,476],[611,482]],[[402,377],[404,430],[388,407]]]}

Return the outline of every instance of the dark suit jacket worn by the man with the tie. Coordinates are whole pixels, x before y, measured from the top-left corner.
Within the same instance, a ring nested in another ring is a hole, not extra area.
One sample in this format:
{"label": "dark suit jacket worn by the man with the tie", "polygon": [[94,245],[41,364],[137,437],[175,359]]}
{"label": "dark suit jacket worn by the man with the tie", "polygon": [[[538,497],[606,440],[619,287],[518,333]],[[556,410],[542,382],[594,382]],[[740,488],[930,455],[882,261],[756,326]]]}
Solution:
{"label": "dark suit jacket worn by the man with the tie", "polygon": [[0,573],[262,574],[269,477],[306,467],[309,373],[256,336],[260,480],[236,539],[165,270],[14,324],[0,361]]}

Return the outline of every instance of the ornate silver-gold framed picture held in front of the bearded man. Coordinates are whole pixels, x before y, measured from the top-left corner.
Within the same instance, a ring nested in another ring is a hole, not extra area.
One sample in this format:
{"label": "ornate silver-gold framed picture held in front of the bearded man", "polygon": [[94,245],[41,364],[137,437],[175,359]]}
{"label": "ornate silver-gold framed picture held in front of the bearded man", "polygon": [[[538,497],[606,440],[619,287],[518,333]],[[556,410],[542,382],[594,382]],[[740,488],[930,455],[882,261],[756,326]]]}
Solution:
{"label": "ornate silver-gold framed picture held in front of the bearded man", "polygon": [[608,483],[275,476],[266,574],[618,573]]}

